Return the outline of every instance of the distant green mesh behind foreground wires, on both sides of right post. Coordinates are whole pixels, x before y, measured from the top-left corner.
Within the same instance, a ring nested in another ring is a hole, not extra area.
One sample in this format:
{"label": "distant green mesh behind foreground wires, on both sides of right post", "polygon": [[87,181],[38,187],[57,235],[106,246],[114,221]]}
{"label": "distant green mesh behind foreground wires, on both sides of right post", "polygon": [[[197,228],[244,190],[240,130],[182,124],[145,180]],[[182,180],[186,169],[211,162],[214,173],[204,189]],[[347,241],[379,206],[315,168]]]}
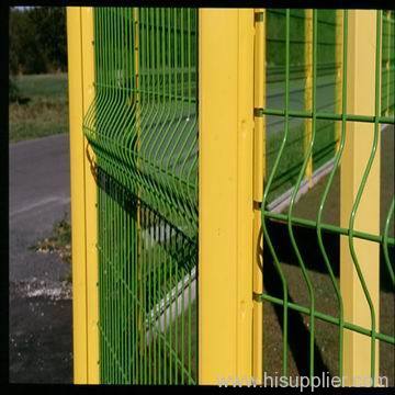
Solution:
{"label": "distant green mesh behind foreground wires, on both sides of right post", "polygon": [[[312,65],[306,60],[306,45],[311,44],[306,37],[307,10],[290,10],[290,136],[286,142],[289,155],[280,163],[269,193],[269,201],[282,196],[292,188],[297,179],[298,169],[304,156],[305,119],[297,112],[305,111],[305,93],[307,71]],[[341,20],[337,20],[337,10],[319,10],[317,15],[317,112],[336,113],[341,103],[340,83],[341,59],[338,59],[337,48],[341,46],[337,27],[341,29]],[[285,98],[285,10],[268,9],[266,16],[267,36],[267,106],[273,110],[266,122],[267,133],[267,168],[272,168],[282,138],[279,131],[284,129],[283,103]],[[394,106],[394,12],[385,11],[382,30],[382,114],[393,114]],[[292,114],[295,113],[295,116]],[[319,171],[326,165],[334,162],[336,146],[339,144],[336,126],[332,120],[317,119],[316,139],[313,147],[313,171]]]}

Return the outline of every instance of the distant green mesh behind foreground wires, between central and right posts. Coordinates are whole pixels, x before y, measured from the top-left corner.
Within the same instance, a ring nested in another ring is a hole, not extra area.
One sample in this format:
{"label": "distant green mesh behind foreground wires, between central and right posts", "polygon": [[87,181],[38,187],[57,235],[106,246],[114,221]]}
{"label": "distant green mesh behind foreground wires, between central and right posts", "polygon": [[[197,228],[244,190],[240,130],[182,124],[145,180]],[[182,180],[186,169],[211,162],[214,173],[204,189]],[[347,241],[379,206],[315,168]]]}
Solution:
{"label": "distant green mesh behind foreground wires, between central and right posts", "polygon": [[[307,10],[294,9],[290,11],[290,109],[305,110],[305,94],[308,88],[307,72],[311,70],[311,59],[306,59],[307,44],[312,44],[306,37],[305,25],[308,21]],[[317,19],[317,90],[316,98],[318,111],[334,112],[339,98],[336,95],[336,76],[339,61],[336,58],[337,46],[336,29],[339,23],[336,20],[336,10],[320,10]],[[284,102],[285,80],[285,10],[267,10],[267,106],[282,109]],[[302,165],[300,158],[304,151],[304,133],[306,120],[292,119],[290,121],[290,138],[287,149],[294,155],[287,156],[282,161],[273,180],[269,200],[279,198],[292,187],[298,168]],[[275,160],[281,146],[279,131],[284,128],[283,116],[267,117],[267,167],[270,169]],[[313,151],[313,169],[316,170],[334,158],[336,147],[336,134],[334,123],[321,121],[316,128],[317,142]]]}

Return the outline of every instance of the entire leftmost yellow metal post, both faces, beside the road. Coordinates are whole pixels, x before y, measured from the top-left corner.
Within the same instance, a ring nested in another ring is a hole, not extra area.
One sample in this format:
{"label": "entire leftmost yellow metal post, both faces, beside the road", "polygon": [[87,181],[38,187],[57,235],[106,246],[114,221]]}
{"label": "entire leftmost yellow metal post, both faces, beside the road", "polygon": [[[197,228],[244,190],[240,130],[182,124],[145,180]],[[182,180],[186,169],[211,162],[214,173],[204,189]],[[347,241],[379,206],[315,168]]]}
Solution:
{"label": "entire leftmost yellow metal post, both faces, beside the road", "polygon": [[82,133],[94,97],[93,10],[67,8],[72,224],[74,382],[99,382],[97,183]]}

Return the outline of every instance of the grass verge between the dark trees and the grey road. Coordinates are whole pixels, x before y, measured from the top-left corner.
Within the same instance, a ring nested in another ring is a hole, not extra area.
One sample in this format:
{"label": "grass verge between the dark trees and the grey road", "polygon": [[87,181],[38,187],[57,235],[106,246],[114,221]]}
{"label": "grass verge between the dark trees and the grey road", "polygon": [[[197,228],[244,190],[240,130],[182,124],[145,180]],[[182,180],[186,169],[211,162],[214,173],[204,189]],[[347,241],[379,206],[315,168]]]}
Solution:
{"label": "grass verge between the dark trees and the grey road", "polygon": [[15,77],[20,102],[10,103],[11,143],[68,132],[67,74]]}

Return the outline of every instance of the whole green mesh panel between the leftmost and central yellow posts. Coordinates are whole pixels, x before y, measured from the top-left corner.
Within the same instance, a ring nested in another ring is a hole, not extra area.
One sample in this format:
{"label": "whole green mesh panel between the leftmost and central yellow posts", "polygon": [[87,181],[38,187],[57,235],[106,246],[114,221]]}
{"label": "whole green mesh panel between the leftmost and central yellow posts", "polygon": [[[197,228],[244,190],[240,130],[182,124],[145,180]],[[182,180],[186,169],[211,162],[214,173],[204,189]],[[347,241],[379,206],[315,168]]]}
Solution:
{"label": "whole green mesh panel between the leftmost and central yellow posts", "polygon": [[102,383],[198,380],[196,19],[94,9]]}

